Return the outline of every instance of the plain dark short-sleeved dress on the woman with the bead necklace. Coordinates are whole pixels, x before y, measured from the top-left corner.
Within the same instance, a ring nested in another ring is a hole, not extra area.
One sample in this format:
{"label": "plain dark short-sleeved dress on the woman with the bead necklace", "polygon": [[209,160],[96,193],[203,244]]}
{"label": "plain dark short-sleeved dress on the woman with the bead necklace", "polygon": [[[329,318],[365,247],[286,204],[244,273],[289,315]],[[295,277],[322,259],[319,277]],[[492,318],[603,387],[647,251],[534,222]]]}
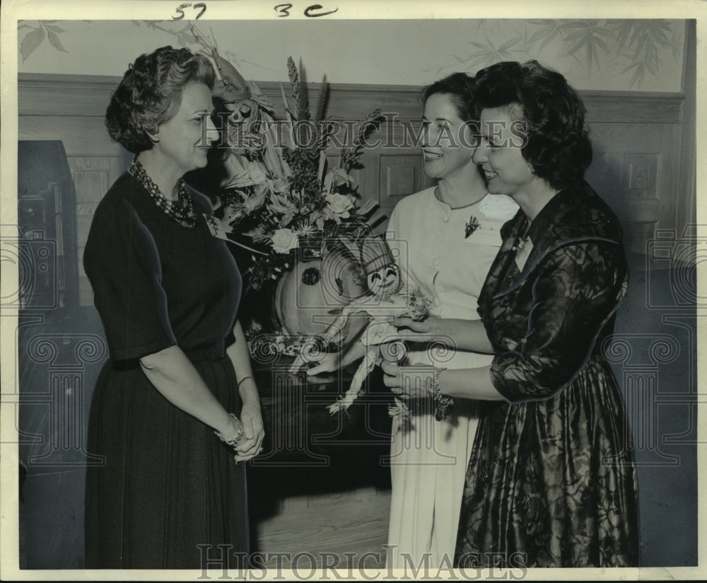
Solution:
{"label": "plain dark short-sleeved dress on the woman with the bead necklace", "polygon": [[[86,477],[86,567],[194,568],[218,544],[247,553],[245,470],[213,429],[171,405],[139,359],[178,345],[229,412],[240,413],[225,350],[241,279],[189,190],[197,226],[168,217],[129,173],[98,205],[83,263],[110,361],[93,393]],[[230,563],[235,565],[235,559]]]}

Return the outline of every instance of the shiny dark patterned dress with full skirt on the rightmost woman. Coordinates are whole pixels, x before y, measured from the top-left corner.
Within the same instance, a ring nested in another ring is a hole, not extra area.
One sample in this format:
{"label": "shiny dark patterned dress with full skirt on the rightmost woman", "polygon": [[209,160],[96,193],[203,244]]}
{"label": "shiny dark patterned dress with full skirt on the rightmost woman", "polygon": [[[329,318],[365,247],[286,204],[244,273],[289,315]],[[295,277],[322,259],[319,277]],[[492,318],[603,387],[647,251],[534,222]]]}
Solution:
{"label": "shiny dark patterned dress with full skirt on the rightmost woman", "polygon": [[624,403],[602,357],[628,270],[621,229],[585,183],[522,212],[479,296],[496,356],[481,403],[455,562],[469,567],[630,567],[638,506]]}

